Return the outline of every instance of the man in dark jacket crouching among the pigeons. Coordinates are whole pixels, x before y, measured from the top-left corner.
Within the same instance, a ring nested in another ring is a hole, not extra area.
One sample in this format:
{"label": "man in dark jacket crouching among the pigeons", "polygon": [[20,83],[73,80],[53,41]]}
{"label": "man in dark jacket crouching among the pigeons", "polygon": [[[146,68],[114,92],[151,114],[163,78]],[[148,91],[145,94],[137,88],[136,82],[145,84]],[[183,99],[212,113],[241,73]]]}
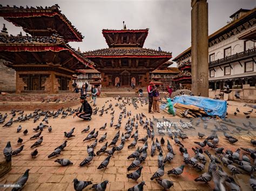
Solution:
{"label": "man in dark jacket crouching among the pigeons", "polygon": [[74,114],[73,117],[79,117],[85,121],[91,120],[92,108],[91,105],[87,102],[86,97],[80,97],[80,103],[82,103],[80,110]]}

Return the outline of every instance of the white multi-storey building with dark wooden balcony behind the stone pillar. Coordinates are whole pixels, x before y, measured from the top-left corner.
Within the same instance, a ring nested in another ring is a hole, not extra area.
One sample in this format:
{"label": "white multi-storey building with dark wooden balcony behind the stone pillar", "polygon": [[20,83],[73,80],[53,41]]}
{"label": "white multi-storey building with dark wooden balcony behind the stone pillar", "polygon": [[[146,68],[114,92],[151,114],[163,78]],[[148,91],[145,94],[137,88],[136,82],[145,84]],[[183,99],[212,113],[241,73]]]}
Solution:
{"label": "white multi-storey building with dark wooden balcony behind the stone pillar", "polygon": [[[256,9],[240,9],[231,22],[208,36],[209,88],[254,87],[256,83]],[[191,61],[191,48],[173,61]]]}

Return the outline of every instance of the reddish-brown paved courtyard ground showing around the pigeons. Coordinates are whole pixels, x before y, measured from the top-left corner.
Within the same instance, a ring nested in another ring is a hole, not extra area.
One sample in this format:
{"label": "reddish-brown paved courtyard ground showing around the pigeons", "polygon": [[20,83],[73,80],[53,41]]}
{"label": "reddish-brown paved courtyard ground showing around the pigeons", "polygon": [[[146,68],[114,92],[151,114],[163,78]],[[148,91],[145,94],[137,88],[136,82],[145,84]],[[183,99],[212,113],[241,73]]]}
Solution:
{"label": "reddish-brown paved courtyard ground showing around the pigeons", "polygon": [[[128,98],[129,101],[127,101],[127,98],[118,99],[113,97],[99,97],[97,98],[97,106],[100,109],[105,105],[105,109],[109,107],[109,104],[111,103],[113,106],[114,111],[114,119],[113,124],[116,125],[118,123],[118,118],[120,115],[120,112],[123,111],[124,107],[120,109],[118,106],[115,106],[116,103],[124,104],[125,102],[130,103],[131,98]],[[91,101],[89,101],[91,102]],[[79,101],[77,101],[76,107],[73,107],[73,109],[77,109],[80,104]],[[133,104],[126,104],[126,110],[131,111],[131,118],[133,116],[136,116],[137,114],[144,114],[146,117],[143,117],[143,121],[146,121],[146,118],[148,120],[152,120],[154,125],[156,125],[157,121],[154,119],[162,119],[163,117],[165,119],[169,119],[170,121],[180,121],[180,119],[183,122],[189,122],[188,119],[185,118],[179,118],[179,117],[172,117],[168,115],[166,112],[161,111],[160,113],[154,113],[154,114],[148,114],[147,108],[148,104],[146,103],[146,99],[144,98],[143,102],[140,103],[140,101],[137,102],[138,109],[135,109]],[[92,103],[91,103],[92,104]],[[248,110],[251,110],[251,108],[243,106],[245,103],[242,102],[228,102],[228,118],[231,118],[232,120],[237,121],[237,126],[242,126],[242,122],[248,123],[248,121],[251,121],[253,124],[255,124],[255,112],[253,111],[251,114],[250,119],[246,119],[244,114],[242,112],[246,112]],[[93,107],[95,108],[95,107]],[[240,113],[237,116],[232,116],[233,112],[236,108],[239,108]],[[14,108],[15,109],[15,108]],[[109,165],[106,169],[97,169],[97,167],[100,165],[100,163],[107,157],[106,153],[102,153],[100,155],[96,155],[96,157],[93,157],[92,161],[89,165],[80,167],[79,164],[87,157],[87,145],[90,145],[91,143],[95,142],[95,139],[92,140],[84,140],[84,138],[88,135],[88,133],[96,129],[96,131],[99,131],[98,133],[98,140],[100,137],[104,135],[104,133],[107,133],[106,140],[102,143],[98,143],[95,147],[95,153],[98,151],[105,143],[106,141],[108,143],[111,142],[114,135],[118,132],[118,130],[115,129],[114,126],[112,128],[110,127],[110,121],[111,121],[111,110],[107,111],[107,114],[104,111],[104,114],[102,116],[99,116],[99,112],[96,115],[92,115],[92,120],[89,122],[83,121],[82,119],[79,119],[78,117],[73,118],[73,116],[67,116],[66,118],[62,119],[61,115],[59,115],[57,118],[53,119],[52,117],[48,119],[49,126],[52,126],[52,131],[49,132],[47,128],[45,128],[42,131],[43,136],[43,143],[41,146],[36,147],[38,150],[38,155],[35,159],[31,157],[31,152],[35,150],[35,148],[30,148],[30,146],[36,142],[35,139],[30,140],[29,138],[36,134],[36,132],[33,130],[33,128],[36,128],[39,123],[42,122],[44,116],[41,116],[39,120],[36,123],[33,123],[33,118],[31,118],[29,121],[21,122],[21,123],[14,123],[9,128],[2,128],[0,129],[0,135],[1,135],[1,142],[0,142],[0,150],[3,150],[6,146],[6,143],[8,141],[11,142],[12,150],[16,150],[20,144],[17,144],[18,138],[23,139],[22,145],[24,145],[23,151],[19,153],[16,156],[12,156],[12,169],[9,173],[4,175],[2,178],[0,178],[0,184],[8,184],[8,183],[14,183],[17,181],[19,176],[21,176],[26,169],[30,169],[29,171],[29,179],[26,182],[25,187],[23,190],[73,190],[73,179],[77,178],[78,180],[84,180],[84,181],[92,181],[92,183],[99,183],[104,180],[108,180],[109,183],[107,185],[106,190],[127,190],[130,187],[135,186],[137,183],[141,181],[145,181],[146,185],[144,186],[145,190],[160,190],[163,189],[163,187],[159,186],[156,180],[151,181],[151,176],[157,171],[158,169],[158,154],[159,151],[156,152],[156,154],[151,157],[151,143],[152,140],[149,138],[147,140],[149,144],[149,149],[147,150],[147,158],[144,162],[142,162],[142,175],[137,181],[127,179],[126,174],[129,174],[136,169],[132,169],[131,171],[127,171],[127,167],[130,166],[133,159],[127,159],[127,157],[136,150],[137,146],[140,148],[143,146],[143,142],[138,142],[135,148],[127,148],[128,145],[130,145],[133,142],[133,138],[129,138],[126,140],[124,144],[124,148],[122,151],[116,151],[113,154],[113,157],[111,157]],[[5,112],[8,113],[8,118],[6,118],[6,122],[10,119],[10,111],[1,111],[1,114],[5,114]],[[24,111],[24,114],[30,114],[33,111]],[[19,115],[17,115],[19,116]],[[16,116],[16,117],[17,117]],[[125,131],[125,123],[129,119],[128,116],[122,118],[122,125],[120,127],[120,137],[122,133]],[[198,119],[194,119],[192,124],[195,128],[192,130],[184,130],[184,133],[188,136],[188,139],[185,139],[181,141],[181,143],[184,145],[185,148],[187,148],[188,154],[190,154],[190,157],[192,158],[194,153],[192,151],[192,147],[198,146],[197,144],[194,144],[194,142],[203,142],[202,139],[199,139],[197,136],[197,133],[204,133],[205,139],[206,137],[210,136],[212,134],[210,125],[208,125],[207,129],[204,129],[203,123],[200,123],[198,126],[196,126],[196,122]],[[135,122],[138,121],[135,119]],[[216,120],[215,120],[216,121]],[[43,122],[44,123],[44,122]],[[100,127],[102,127],[105,123],[107,123],[105,130],[99,130]],[[213,122],[215,123],[215,122]],[[216,121],[216,123],[218,123]],[[45,123],[44,123],[45,124]],[[210,122],[209,122],[210,124]],[[22,126],[22,131],[17,133],[18,126]],[[82,130],[85,129],[88,125],[90,125],[89,132],[82,133]],[[73,135],[75,137],[71,138],[65,138],[64,137],[64,131],[69,132],[72,128],[75,128],[75,131]],[[155,127],[154,127],[155,128]],[[23,135],[23,131],[25,129],[28,129],[28,134],[25,136]],[[182,130],[182,128],[180,128]],[[233,126],[228,126],[228,129],[230,131],[227,131],[228,134],[238,138],[238,142],[234,144],[230,144],[225,137],[223,136],[223,132],[217,132],[219,135],[219,143],[218,147],[224,147],[225,150],[229,149],[233,152],[237,150],[239,147],[244,148],[254,148],[253,145],[250,143],[250,140],[253,138],[255,139],[255,131],[240,131],[238,135],[238,131]],[[40,131],[40,130],[39,130]],[[39,132],[38,131],[38,132]],[[135,132],[135,130],[132,131],[132,134]],[[138,125],[138,132],[139,132],[139,139],[145,137],[147,135],[147,132],[145,129],[143,129],[143,125]],[[155,132],[156,136],[154,138],[154,141],[156,141],[156,138],[158,138],[159,142],[162,136],[158,135],[157,132]],[[184,172],[181,175],[168,175],[167,171],[176,168],[182,164],[184,164],[183,161],[183,155],[180,154],[179,146],[174,144],[174,141],[168,136],[164,135],[163,138],[165,139],[164,145],[162,145],[163,148],[163,155],[164,157],[167,154],[167,140],[170,141],[174,153],[173,160],[169,163],[166,162],[165,165],[165,174],[162,177],[162,179],[167,179],[173,181],[174,186],[171,188],[171,190],[212,190],[214,187],[213,181],[206,183],[202,182],[196,182],[194,181],[195,178],[203,174],[204,172],[207,172],[208,164],[209,164],[209,158],[207,158],[207,155],[205,154],[205,157],[207,159],[207,163],[205,165],[205,169],[203,172],[198,172],[196,169],[192,168],[190,165],[186,165],[184,168]],[[65,140],[68,140],[66,147],[64,148],[64,151],[61,152],[61,154],[57,157],[48,158],[48,155],[51,154],[56,147],[58,147],[60,144],[62,144]],[[181,139],[180,139],[181,140]],[[118,146],[120,144],[120,138],[118,139],[118,142],[116,145]],[[112,147],[108,147],[107,150],[111,150]],[[207,149],[211,153],[214,153],[212,148],[204,147],[204,150]],[[224,151],[225,151],[224,150]],[[246,153],[244,151],[241,151],[241,153]],[[3,155],[2,155],[3,156]],[[2,157],[1,156],[1,157]],[[65,158],[69,159],[73,162],[73,165],[69,166],[60,166],[57,162],[55,162],[58,158]],[[253,161],[252,161],[253,162]],[[223,166],[223,165],[222,165]],[[225,171],[228,172],[228,169],[224,167]],[[242,190],[250,190],[250,185],[248,183],[250,179],[250,175],[247,174],[238,174],[235,175],[235,181],[239,183]],[[91,188],[91,185],[86,187],[85,189]],[[1,188],[3,189],[3,188]],[[6,189],[6,190],[10,190]]]}

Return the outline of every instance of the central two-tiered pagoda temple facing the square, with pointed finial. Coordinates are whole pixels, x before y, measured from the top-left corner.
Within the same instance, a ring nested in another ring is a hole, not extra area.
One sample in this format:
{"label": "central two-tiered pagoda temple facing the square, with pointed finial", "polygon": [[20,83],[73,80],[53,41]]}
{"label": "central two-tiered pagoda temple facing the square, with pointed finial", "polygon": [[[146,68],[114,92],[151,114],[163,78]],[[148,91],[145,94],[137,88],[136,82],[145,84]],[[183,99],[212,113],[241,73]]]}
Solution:
{"label": "central two-tiered pagoda temple facing the square, with pointed finial", "polygon": [[172,58],[172,53],[143,48],[149,29],[102,30],[109,48],[83,55],[102,73],[102,86],[147,86],[150,72]]}

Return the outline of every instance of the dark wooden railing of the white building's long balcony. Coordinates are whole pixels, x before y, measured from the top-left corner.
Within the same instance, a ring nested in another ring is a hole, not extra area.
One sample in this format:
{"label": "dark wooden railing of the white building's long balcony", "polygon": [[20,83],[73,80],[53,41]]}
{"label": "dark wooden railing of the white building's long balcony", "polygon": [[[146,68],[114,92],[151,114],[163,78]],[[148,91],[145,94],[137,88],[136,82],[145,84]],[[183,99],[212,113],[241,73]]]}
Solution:
{"label": "dark wooden railing of the white building's long balcony", "polygon": [[233,54],[231,56],[227,56],[226,58],[209,62],[209,66],[219,65],[220,63],[230,62],[230,61],[241,59],[254,54],[256,55],[256,48],[248,49],[247,51]]}

